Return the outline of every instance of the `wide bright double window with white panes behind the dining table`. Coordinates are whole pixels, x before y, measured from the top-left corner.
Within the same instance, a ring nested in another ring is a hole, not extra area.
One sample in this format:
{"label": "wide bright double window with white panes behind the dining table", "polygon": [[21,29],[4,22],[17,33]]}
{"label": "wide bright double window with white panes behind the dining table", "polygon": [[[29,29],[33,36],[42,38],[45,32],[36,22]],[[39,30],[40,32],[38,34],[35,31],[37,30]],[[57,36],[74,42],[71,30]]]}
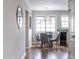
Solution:
{"label": "wide bright double window with white panes behind the dining table", "polygon": [[55,31],[55,16],[50,16],[48,19],[45,17],[36,17],[36,32],[50,32]]}

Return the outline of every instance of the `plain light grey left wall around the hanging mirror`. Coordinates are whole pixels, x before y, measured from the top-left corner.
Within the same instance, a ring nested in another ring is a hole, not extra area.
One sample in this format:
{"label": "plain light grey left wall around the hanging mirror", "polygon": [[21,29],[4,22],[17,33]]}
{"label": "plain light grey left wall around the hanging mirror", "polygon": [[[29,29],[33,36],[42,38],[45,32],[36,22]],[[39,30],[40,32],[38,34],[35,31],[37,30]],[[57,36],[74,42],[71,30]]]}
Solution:
{"label": "plain light grey left wall around the hanging mirror", "polygon": [[[21,59],[25,50],[25,9],[30,12],[25,0],[3,1],[3,53],[4,59]],[[16,10],[20,5],[23,10],[23,27],[18,29]],[[27,40],[27,39],[26,39]]]}

